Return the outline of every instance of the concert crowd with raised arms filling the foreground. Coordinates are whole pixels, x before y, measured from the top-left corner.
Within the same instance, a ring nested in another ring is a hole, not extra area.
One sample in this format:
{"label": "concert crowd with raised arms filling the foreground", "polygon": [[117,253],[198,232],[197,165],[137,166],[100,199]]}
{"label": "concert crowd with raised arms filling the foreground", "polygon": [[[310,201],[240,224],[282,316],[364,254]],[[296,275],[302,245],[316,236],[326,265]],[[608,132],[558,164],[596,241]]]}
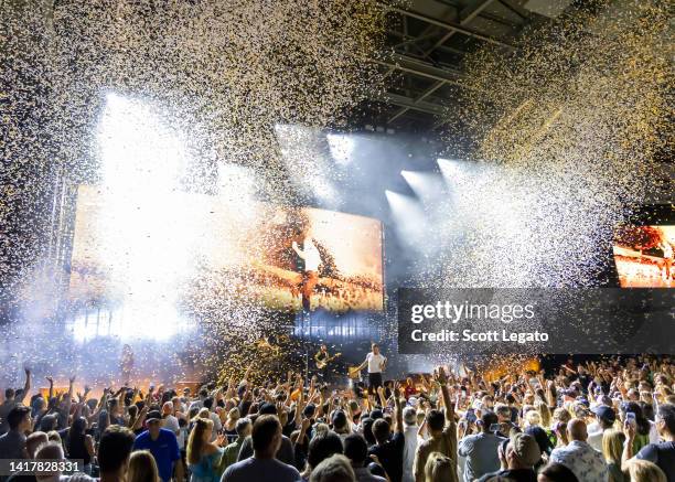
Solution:
{"label": "concert crowd with raised arms filling the foreground", "polygon": [[[185,388],[8,388],[0,459],[69,461],[0,480],[675,482],[675,364],[603,357],[550,372],[385,381],[288,373]],[[62,469],[64,467],[64,469]],[[68,467],[73,469],[73,467]],[[6,470],[6,469],[3,469]]]}

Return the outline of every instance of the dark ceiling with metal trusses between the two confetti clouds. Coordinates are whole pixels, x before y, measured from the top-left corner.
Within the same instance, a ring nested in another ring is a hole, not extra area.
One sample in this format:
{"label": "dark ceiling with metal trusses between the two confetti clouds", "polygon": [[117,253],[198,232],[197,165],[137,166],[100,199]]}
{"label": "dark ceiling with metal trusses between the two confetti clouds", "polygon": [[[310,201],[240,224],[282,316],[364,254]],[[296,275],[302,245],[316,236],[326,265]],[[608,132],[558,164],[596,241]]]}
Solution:
{"label": "dark ceiling with metal trusses between the two confetti clouds", "polygon": [[462,86],[464,56],[485,43],[513,51],[532,24],[562,13],[571,0],[410,0],[387,7],[387,51],[373,62],[386,92],[374,95],[362,126],[432,133],[442,126]]}

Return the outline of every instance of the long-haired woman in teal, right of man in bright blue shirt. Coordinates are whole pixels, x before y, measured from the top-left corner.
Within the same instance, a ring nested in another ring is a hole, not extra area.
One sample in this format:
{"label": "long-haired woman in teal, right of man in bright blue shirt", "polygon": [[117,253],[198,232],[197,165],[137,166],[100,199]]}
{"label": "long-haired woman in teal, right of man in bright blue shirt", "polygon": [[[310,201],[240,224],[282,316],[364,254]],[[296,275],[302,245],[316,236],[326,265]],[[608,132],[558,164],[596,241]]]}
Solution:
{"label": "long-haired woman in teal, right of man in bright blue shirt", "polygon": [[191,482],[217,482],[221,480],[218,461],[223,454],[221,444],[224,437],[218,436],[211,441],[213,420],[203,418],[201,414],[193,420],[194,427],[188,439],[188,468],[192,473]]}

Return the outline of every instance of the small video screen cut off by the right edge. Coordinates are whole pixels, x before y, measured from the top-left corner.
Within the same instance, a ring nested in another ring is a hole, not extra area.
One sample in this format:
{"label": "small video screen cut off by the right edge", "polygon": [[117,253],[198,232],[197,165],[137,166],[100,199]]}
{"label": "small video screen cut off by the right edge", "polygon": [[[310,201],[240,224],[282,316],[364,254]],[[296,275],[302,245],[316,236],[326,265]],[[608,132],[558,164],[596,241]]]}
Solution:
{"label": "small video screen cut off by the right edge", "polygon": [[614,261],[623,288],[675,286],[675,226],[622,226],[615,233]]}

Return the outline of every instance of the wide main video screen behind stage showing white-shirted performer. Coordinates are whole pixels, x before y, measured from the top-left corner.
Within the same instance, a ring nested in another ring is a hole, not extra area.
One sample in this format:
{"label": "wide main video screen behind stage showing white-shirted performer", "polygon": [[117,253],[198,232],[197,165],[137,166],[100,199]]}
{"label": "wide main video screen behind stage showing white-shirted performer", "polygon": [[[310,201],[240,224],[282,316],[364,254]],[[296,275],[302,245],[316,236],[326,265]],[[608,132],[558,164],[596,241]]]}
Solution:
{"label": "wide main video screen behind stage showing white-shirted performer", "polygon": [[266,309],[381,311],[379,221],[171,192],[78,189],[69,299],[185,306],[205,296]]}

